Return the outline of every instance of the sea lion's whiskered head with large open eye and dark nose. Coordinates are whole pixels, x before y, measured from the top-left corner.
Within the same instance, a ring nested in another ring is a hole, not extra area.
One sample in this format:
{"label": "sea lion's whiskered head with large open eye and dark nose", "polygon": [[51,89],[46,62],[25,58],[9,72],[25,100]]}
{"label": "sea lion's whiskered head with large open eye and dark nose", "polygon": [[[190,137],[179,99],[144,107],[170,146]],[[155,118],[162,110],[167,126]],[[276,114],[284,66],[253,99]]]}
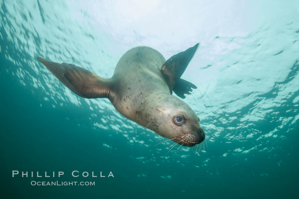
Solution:
{"label": "sea lion's whiskered head with large open eye and dark nose", "polygon": [[147,128],[184,146],[193,147],[205,139],[199,117],[181,99],[157,94],[148,105]]}

